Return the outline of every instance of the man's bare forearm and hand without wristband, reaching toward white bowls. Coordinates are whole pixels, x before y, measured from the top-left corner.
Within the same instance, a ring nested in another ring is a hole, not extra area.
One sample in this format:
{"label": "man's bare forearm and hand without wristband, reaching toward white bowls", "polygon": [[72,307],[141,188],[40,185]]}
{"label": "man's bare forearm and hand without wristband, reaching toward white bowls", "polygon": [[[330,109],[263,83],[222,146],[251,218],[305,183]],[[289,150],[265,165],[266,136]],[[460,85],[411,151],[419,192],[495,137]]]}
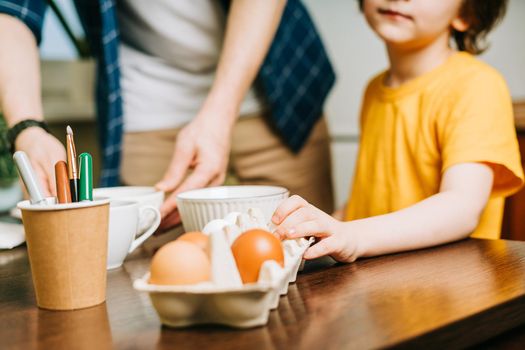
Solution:
{"label": "man's bare forearm and hand without wristband, reaching toward white bowls", "polygon": [[[161,208],[163,227],[180,223],[175,222],[178,216],[172,215],[178,193],[224,181],[233,125],[268,52],[285,5],[283,0],[232,1],[210,93],[195,120],[179,133],[169,169],[157,184],[166,192],[174,191]],[[193,172],[186,178],[191,169]]]}

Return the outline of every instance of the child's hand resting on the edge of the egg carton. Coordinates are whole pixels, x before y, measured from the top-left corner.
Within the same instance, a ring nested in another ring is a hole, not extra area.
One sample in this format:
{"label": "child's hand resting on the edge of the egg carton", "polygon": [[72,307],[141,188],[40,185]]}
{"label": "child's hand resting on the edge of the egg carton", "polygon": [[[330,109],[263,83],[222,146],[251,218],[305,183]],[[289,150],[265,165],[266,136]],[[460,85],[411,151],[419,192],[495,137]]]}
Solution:
{"label": "child's hand resting on the edge of the egg carton", "polygon": [[320,239],[308,248],[305,259],[330,255],[338,261],[352,262],[357,258],[355,236],[345,229],[348,223],[334,219],[299,196],[284,201],[273,214],[272,222],[278,225],[274,233],[281,239]]}

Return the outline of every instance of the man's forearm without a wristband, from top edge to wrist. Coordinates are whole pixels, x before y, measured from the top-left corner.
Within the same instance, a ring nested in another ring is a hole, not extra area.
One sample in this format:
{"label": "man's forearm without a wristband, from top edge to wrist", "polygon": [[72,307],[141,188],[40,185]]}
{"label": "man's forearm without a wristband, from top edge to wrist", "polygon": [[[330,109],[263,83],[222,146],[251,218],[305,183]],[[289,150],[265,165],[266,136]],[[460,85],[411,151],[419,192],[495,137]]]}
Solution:
{"label": "man's forearm without a wristband, from top edge to wrist", "polygon": [[229,109],[232,118],[237,116],[266,57],[285,4],[285,0],[232,1],[224,46],[207,101]]}

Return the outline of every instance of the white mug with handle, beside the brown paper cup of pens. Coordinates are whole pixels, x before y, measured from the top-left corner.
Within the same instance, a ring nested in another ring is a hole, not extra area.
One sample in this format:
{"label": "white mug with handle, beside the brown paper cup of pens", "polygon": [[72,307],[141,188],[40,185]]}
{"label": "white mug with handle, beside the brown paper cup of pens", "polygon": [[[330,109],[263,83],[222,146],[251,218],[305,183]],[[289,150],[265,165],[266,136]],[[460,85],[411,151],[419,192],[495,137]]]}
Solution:
{"label": "white mug with handle, beside the brown paper cup of pens", "polygon": [[[146,232],[139,232],[139,222],[146,214],[153,215],[153,221]],[[160,212],[157,208],[137,202],[112,200],[109,206],[108,262],[107,268],[122,265],[126,256],[148,239],[160,225]]]}

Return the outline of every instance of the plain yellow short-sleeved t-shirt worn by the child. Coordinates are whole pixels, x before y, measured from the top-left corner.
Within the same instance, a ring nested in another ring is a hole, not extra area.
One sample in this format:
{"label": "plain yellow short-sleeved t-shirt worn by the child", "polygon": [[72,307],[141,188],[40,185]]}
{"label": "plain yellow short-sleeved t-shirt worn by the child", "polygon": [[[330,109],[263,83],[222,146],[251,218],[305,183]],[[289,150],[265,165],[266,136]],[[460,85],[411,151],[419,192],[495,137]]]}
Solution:
{"label": "plain yellow short-sleeved t-shirt worn by the child", "polygon": [[391,213],[439,192],[458,163],[483,162],[494,186],[473,237],[499,238],[504,197],[523,184],[512,102],[501,75],[467,53],[397,88],[374,78],[346,220]]}

